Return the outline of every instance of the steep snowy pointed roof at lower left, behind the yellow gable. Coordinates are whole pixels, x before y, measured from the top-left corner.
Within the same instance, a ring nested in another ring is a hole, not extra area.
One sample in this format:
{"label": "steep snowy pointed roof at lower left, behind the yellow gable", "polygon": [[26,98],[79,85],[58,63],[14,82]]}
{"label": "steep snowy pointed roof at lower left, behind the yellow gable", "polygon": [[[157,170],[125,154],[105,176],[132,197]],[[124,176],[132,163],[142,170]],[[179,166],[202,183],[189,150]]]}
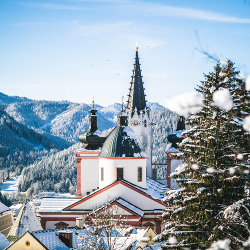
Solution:
{"label": "steep snowy pointed roof at lower left, behind the yellow gable", "polygon": [[31,205],[29,203],[25,203],[8,235],[21,236],[26,231],[32,232],[37,230],[42,230],[42,226]]}

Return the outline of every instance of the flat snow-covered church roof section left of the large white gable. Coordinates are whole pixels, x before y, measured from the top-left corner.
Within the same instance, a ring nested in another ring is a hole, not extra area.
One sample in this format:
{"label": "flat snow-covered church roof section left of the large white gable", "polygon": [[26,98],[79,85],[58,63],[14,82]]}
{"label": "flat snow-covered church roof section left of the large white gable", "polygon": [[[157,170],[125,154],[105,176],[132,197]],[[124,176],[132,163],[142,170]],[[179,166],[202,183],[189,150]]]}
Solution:
{"label": "flat snow-covered church roof section left of the large white gable", "polygon": [[43,198],[39,212],[60,212],[65,207],[79,201],[78,198]]}

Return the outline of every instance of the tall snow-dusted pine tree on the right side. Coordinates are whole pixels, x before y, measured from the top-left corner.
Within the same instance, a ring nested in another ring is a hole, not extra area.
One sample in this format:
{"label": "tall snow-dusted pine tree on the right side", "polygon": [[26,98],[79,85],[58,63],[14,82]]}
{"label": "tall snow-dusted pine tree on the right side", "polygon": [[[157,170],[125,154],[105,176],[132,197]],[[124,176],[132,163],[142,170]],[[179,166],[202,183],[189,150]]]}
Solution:
{"label": "tall snow-dusted pine tree on the right side", "polygon": [[[205,75],[197,91],[204,96],[204,105],[187,119],[190,129],[180,145],[184,161],[173,174],[181,188],[171,190],[165,199],[169,209],[163,215],[167,224],[162,236],[177,239],[167,248],[207,247],[227,237],[225,230],[218,230],[220,214],[248,195],[249,132],[242,122],[249,115],[249,92],[244,81],[227,61]],[[222,97],[217,102],[216,92]],[[241,234],[242,239],[248,237],[247,231]],[[237,246],[242,246],[242,239]]]}

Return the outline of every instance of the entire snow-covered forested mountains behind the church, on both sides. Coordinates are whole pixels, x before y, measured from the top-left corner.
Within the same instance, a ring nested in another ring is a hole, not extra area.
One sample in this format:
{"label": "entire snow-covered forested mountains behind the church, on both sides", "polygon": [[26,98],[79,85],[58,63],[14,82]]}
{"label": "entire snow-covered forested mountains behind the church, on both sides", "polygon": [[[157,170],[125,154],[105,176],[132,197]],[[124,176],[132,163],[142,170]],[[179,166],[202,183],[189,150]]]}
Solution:
{"label": "entire snow-covered forested mountains behind the church, on both sides", "polygon": [[[34,101],[0,94],[1,180],[21,175],[19,191],[74,193],[78,137],[88,128],[90,105]],[[153,117],[153,162],[165,163],[167,135],[176,127],[177,115],[149,103]],[[116,126],[121,104],[96,105],[98,129]]]}

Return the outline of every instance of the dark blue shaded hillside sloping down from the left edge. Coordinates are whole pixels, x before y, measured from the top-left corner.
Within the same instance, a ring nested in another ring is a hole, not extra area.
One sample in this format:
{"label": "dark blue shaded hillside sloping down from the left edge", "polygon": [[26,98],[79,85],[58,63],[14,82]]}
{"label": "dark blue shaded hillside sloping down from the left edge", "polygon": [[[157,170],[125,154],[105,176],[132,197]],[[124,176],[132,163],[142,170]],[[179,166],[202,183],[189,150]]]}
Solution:
{"label": "dark blue shaded hillside sloping down from the left edge", "polygon": [[17,122],[0,108],[0,169],[18,171],[39,155],[68,148],[70,143],[46,133],[38,133]]}

